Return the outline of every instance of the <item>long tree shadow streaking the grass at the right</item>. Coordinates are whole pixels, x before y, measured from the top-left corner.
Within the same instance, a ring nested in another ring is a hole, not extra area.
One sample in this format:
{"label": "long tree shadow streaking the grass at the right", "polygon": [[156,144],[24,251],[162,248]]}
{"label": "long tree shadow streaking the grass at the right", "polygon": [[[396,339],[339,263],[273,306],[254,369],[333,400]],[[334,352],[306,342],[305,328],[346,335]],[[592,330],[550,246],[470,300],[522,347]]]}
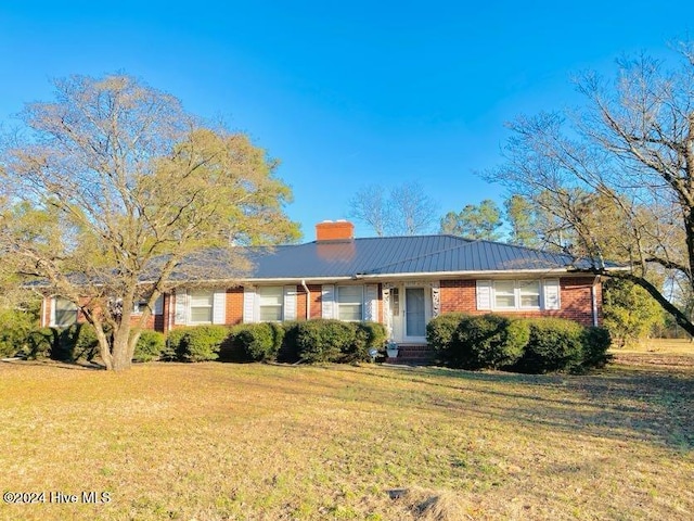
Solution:
{"label": "long tree shadow streaking the grass at the right", "polygon": [[694,370],[615,367],[589,376],[530,376],[396,368],[372,373],[460,391],[460,397],[450,392],[424,393],[425,406],[459,410],[468,418],[507,418],[517,428],[543,425],[694,449]]}

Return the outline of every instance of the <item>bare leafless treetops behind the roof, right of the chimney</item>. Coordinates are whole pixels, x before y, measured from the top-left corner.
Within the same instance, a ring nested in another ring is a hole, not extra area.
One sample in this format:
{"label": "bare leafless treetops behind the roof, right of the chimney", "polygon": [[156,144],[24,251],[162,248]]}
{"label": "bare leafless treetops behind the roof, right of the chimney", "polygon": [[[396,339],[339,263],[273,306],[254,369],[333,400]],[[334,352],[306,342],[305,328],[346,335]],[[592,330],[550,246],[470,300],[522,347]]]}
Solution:
{"label": "bare leafless treetops behind the roof, right of the chimney", "polygon": [[363,187],[349,207],[349,216],[369,225],[378,237],[426,233],[436,223],[437,204],[416,181],[389,191],[378,185]]}

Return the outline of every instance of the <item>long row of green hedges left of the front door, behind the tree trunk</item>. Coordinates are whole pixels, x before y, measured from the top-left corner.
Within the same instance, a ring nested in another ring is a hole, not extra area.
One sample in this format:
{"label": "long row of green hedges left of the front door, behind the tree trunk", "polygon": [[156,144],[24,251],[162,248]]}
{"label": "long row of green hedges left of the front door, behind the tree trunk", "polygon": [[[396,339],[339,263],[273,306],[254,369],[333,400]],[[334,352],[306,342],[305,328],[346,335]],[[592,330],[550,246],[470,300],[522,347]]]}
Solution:
{"label": "long row of green hedges left of the front door, behind the tree trunk", "polygon": [[[14,336],[5,356],[76,361],[92,360],[99,353],[94,328],[88,323],[27,329]],[[197,326],[175,329],[167,338],[156,331],[142,331],[133,360],[354,363],[371,359],[369,351],[383,347],[385,341],[386,330],[376,322],[314,319],[232,328]]]}

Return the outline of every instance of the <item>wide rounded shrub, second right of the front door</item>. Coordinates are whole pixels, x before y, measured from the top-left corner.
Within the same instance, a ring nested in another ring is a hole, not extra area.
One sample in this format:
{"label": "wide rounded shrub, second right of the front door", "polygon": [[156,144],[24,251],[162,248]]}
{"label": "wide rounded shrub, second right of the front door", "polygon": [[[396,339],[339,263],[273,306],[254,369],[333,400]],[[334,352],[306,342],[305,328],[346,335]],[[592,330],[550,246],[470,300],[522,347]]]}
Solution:
{"label": "wide rounded shrub, second right of the front door", "polygon": [[493,314],[465,317],[448,353],[451,361],[464,369],[509,367],[520,358],[529,336],[523,320]]}

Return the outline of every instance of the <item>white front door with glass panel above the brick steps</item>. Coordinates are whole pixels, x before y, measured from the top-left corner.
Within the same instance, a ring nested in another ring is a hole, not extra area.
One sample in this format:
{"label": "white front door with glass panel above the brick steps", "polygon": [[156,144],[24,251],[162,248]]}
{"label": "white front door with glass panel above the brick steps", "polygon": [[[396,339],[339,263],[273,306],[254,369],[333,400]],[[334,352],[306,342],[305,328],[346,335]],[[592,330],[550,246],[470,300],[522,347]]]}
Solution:
{"label": "white front door with glass panel above the brick steps", "polygon": [[426,322],[432,317],[432,293],[422,285],[390,290],[393,338],[396,342],[426,342]]}

